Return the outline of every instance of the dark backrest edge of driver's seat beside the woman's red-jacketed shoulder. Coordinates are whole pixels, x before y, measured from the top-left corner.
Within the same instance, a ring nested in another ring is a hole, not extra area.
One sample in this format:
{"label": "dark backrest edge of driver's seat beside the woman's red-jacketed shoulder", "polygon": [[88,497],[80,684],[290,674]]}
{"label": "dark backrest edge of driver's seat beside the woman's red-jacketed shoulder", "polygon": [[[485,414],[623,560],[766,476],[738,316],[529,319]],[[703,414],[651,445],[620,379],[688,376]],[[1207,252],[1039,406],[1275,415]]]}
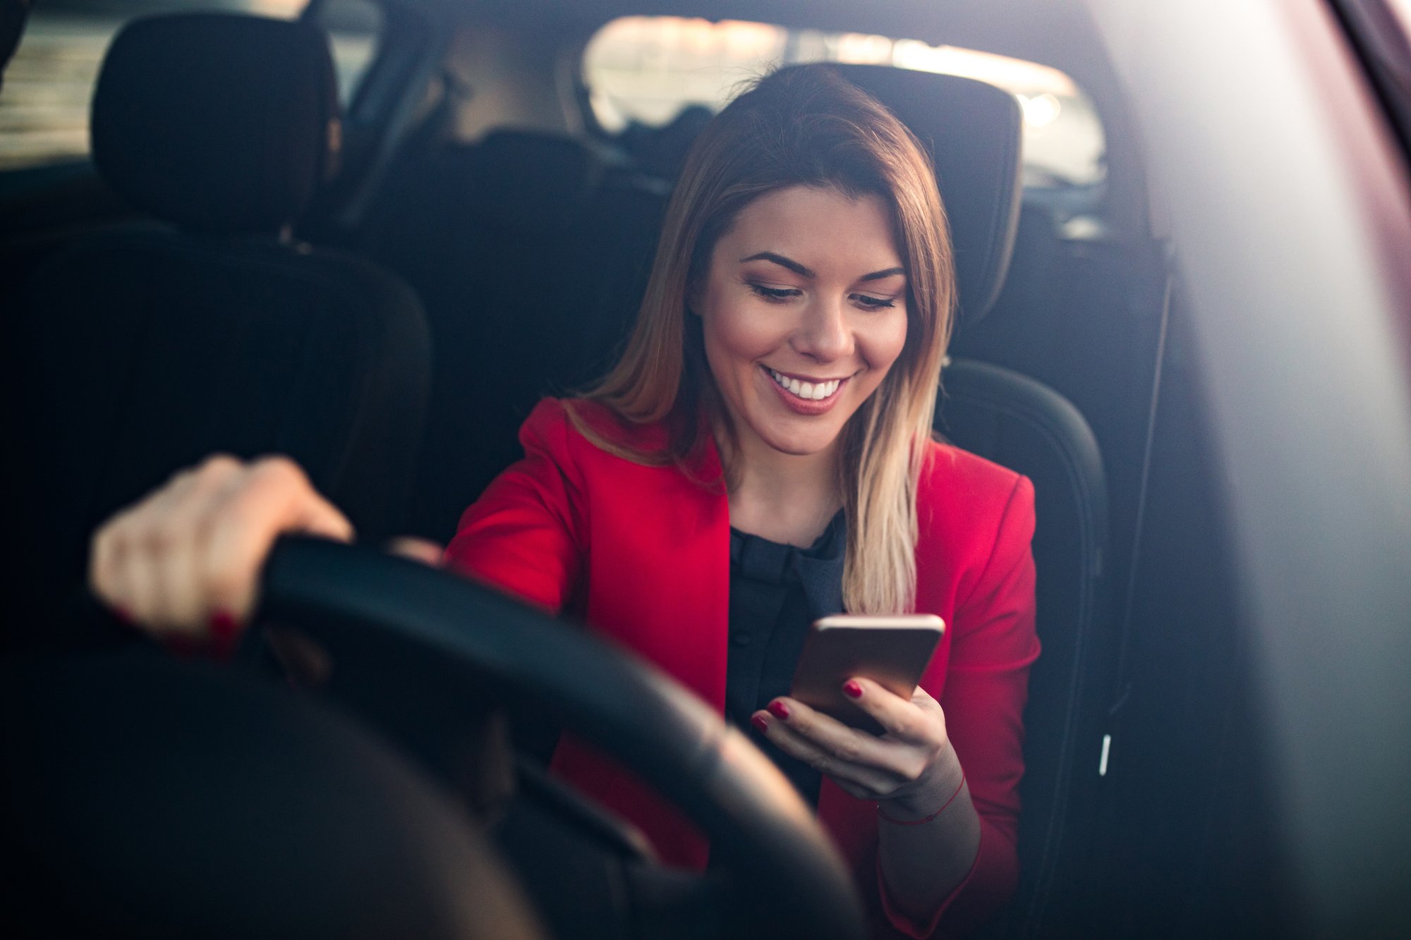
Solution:
{"label": "dark backrest edge of driver's seat beside the woman's red-jacketed shoulder", "polygon": [[[1034,483],[1043,655],[1024,710],[1020,886],[998,936],[1050,936],[1065,879],[1092,830],[1101,757],[1098,696],[1086,690],[1109,596],[1108,488],[1098,440],[1065,398],[1019,373],[955,360],[943,377],[937,429]],[[1046,933],[1046,927],[1048,932]]]}

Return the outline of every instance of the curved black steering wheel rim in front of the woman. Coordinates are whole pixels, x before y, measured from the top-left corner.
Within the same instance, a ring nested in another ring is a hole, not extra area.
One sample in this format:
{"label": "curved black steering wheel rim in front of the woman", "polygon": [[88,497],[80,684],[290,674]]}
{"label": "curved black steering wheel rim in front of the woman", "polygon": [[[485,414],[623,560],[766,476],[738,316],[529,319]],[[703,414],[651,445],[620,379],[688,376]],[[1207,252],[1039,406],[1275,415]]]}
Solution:
{"label": "curved black steering wheel rim in front of the woman", "polygon": [[[281,539],[257,621],[330,655],[419,669],[477,697],[532,703],[670,799],[734,875],[762,934],[864,936],[837,848],[775,765],[655,666],[487,587],[367,548]],[[425,676],[425,677],[423,677]]]}

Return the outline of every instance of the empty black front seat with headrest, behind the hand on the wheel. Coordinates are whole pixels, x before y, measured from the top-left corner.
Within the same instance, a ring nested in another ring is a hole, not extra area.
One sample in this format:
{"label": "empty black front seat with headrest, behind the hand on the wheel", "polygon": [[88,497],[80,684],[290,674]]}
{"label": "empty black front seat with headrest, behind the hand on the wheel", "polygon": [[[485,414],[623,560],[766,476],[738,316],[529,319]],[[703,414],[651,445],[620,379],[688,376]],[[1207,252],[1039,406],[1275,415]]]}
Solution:
{"label": "empty black front seat with headrest, behind the hand on the wheel", "polygon": [[151,220],[69,246],[6,313],[24,594],[52,604],[97,522],[212,452],[286,453],[360,534],[395,531],[430,374],[420,305],[375,265],[286,234],[334,154],[326,37],[257,17],[134,21],[92,124],[99,171]]}

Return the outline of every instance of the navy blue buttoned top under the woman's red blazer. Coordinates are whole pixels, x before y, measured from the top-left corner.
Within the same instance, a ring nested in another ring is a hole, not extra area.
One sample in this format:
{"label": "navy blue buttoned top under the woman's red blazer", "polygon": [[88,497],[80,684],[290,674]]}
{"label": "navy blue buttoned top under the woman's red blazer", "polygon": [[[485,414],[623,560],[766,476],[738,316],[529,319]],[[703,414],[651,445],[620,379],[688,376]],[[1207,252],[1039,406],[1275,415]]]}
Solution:
{"label": "navy blue buttoned top under the woman's red blazer", "polygon": [[765,740],[749,716],[789,694],[810,624],[842,613],[847,545],[848,524],[841,511],[806,549],[729,531],[725,718],[779,765],[809,806],[818,803],[821,776]]}

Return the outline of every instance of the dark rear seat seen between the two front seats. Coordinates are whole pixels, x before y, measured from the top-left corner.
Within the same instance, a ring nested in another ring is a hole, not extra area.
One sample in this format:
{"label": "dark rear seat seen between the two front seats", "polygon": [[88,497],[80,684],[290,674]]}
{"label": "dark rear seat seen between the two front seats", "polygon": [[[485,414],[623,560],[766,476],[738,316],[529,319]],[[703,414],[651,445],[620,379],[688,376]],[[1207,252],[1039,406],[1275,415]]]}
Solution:
{"label": "dark rear seat seen between the two front seats", "polygon": [[521,456],[535,404],[612,364],[669,186],[586,143],[516,130],[409,155],[389,176],[363,250],[426,303],[436,368],[412,529],[447,541]]}

